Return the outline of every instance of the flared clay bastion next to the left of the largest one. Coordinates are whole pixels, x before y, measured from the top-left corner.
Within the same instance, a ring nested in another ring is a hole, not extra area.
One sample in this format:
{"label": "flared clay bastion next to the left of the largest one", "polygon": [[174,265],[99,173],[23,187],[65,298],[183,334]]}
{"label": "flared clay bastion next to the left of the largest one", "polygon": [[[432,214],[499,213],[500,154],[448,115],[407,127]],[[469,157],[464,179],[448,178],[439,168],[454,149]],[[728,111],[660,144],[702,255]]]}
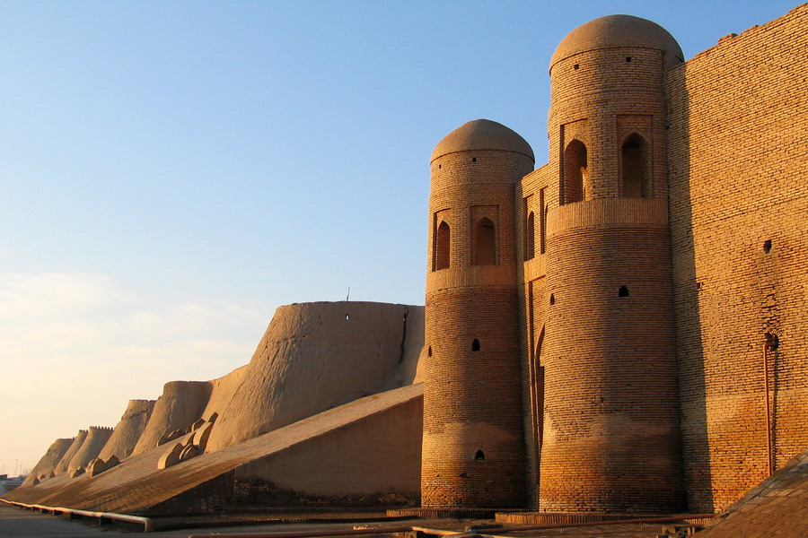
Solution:
{"label": "flared clay bastion next to the left of the largest one", "polygon": [[157,446],[163,436],[175,430],[190,430],[198,421],[210,398],[211,384],[206,381],[171,381],[162,389],[152,416],[137,440],[132,454],[142,454]]}

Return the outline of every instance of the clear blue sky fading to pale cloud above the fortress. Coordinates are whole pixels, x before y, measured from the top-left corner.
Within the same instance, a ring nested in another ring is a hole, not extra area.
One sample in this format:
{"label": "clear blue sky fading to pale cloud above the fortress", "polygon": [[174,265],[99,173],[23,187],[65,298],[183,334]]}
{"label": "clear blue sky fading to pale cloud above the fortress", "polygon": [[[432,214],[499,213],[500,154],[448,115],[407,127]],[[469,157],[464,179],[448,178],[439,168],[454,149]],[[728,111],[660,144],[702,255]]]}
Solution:
{"label": "clear blue sky fading to pale cloud above the fortress", "polygon": [[795,5],[0,0],[0,473],[246,364],[280,305],[423,304],[435,144],[485,117],[545,163],[580,24],[689,59]]}

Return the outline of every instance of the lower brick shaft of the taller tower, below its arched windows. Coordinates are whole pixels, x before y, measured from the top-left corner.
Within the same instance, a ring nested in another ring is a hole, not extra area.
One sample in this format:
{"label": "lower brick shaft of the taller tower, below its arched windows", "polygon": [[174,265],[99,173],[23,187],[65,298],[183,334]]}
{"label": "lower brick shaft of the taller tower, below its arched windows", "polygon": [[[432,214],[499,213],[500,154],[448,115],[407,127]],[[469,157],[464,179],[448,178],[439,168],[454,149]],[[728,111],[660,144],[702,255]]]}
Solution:
{"label": "lower brick shaft of the taller tower, below its arched windows", "polygon": [[601,198],[549,214],[542,511],[683,508],[665,209]]}

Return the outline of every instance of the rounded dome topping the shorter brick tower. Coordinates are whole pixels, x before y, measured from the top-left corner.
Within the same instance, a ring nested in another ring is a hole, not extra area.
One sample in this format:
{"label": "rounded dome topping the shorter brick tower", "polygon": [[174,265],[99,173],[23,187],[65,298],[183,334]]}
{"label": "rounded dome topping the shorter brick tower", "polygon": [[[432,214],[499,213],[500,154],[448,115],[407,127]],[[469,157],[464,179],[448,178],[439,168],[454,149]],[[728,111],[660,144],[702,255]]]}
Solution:
{"label": "rounded dome topping the shorter brick tower", "polygon": [[475,119],[447,134],[435,146],[435,151],[432,152],[432,161],[449,153],[474,150],[517,152],[527,155],[535,161],[531,145],[525,142],[522,136],[490,119]]}

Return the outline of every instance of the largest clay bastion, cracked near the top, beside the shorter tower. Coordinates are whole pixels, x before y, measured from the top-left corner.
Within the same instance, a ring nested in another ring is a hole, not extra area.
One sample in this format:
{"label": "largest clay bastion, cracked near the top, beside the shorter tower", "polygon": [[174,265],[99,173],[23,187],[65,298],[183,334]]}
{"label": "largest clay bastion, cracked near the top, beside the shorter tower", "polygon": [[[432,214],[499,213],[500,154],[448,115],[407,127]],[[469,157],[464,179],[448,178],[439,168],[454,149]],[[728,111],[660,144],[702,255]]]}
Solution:
{"label": "largest clay bastion, cracked near the top, beside the shorter tower", "polygon": [[411,383],[422,347],[423,308],[370,302],[280,307],[250,364],[212,382],[203,416],[220,416],[206,451]]}

